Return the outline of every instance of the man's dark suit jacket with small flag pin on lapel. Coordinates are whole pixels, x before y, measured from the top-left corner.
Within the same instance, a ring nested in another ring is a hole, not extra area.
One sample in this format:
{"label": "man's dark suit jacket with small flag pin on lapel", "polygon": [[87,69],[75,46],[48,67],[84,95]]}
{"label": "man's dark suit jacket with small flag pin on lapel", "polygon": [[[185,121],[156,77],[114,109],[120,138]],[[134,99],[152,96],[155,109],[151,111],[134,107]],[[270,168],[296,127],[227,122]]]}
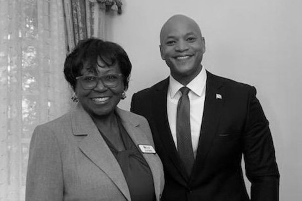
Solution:
{"label": "man's dark suit jacket with small flag pin on lapel", "polygon": [[135,93],[131,102],[131,111],[149,121],[164,165],[162,199],[249,200],[241,169],[243,155],[246,175],[252,183],[251,200],[278,200],[275,150],[255,88],[207,72],[198,150],[191,177],[188,177],[169,128],[168,85],[169,78]]}

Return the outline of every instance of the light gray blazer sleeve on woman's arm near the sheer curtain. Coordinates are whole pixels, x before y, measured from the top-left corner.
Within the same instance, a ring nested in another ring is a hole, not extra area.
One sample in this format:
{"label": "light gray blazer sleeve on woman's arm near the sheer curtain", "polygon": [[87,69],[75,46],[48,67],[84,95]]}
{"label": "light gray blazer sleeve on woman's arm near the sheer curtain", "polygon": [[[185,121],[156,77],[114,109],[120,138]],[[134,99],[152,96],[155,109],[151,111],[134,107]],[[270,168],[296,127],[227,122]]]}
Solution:
{"label": "light gray blazer sleeve on woman's arm near the sheer curtain", "polygon": [[26,201],[62,201],[63,173],[58,140],[49,128],[38,126],[30,143]]}

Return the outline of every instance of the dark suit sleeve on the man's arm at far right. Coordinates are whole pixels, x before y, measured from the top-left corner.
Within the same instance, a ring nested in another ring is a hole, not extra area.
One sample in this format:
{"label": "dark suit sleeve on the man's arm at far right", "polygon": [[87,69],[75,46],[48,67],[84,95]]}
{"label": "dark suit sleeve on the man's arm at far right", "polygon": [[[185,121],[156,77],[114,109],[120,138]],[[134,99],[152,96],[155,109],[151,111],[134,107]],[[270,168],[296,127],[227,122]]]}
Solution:
{"label": "dark suit sleeve on the man's arm at far right", "polygon": [[246,176],[251,182],[252,201],[279,200],[279,172],[268,121],[251,88],[243,136]]}

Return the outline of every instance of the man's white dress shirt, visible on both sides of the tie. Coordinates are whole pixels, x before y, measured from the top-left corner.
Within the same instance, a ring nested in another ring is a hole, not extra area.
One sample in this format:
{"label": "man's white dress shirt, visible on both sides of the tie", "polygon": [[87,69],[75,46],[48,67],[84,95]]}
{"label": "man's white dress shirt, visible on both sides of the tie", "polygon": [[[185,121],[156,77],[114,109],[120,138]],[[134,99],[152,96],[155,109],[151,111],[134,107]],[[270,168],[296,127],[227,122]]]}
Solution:
{"label": "man's white dress shirt, visible on both sides of the tie", "polygon": [[[177,104],[182,93],[180,88],[183,87],[181,83],[176,81],[171,75],[169,77],[169,89],[167,93],[167,114],[172,137],[177,149],[177,137],[176,137],[176,115]],[[202,67],[200,73],[187,84],[190,89],[188,96],[190,99],[190,125],[191,125],[191,139],[194,157],[198,148],[198,140],[201,131],[201,121],[204,112],[204,99],[206,94],[206,81],[207,73],[204,67]]]}

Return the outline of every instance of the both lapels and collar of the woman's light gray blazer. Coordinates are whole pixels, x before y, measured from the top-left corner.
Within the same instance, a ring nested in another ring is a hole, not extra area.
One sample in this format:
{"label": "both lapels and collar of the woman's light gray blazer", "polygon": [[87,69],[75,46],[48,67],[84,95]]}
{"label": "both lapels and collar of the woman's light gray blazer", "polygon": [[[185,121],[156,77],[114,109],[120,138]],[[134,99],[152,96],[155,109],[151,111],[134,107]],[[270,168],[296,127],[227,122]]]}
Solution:
{"label": "both lapels and collar of the woman's light gray blazer", "polygon": [[[116,108],[115,111],[136,146],[139,144],[154,146],[154,144],[148,140],[145,133],[146,131],[140,128],[141,118],[120,108]],[[76,136],[87,135],[87,137],[79,143],[79,148],[95,165],[111,178],[127,200],[131,200],[129,188],[124,174],[120,169],[120,165],[103,137],[99,134],[98,128],[92,121],[92,118],[80,105],[72,113],[72,129]],[[143,157],[146,159],[153,174],[154,190],[158,198],[161,189],[160,169],[155,164],[153,154],[143,154]]]}

